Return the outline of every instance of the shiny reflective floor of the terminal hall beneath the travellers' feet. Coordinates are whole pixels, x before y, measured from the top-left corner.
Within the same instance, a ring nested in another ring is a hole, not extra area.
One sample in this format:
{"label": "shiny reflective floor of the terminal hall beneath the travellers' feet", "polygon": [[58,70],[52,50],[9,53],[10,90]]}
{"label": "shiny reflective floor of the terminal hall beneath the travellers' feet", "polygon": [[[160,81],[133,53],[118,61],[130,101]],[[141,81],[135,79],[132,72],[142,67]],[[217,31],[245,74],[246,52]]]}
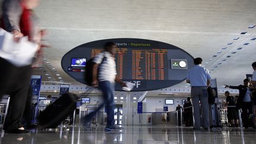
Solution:
{"label": "shiny reflective floor of the terminal hall beneath the travellers' feet", "polygon": [[194,132],[191,128],[165,126],[125,126],[123,132],[106,133],[103,126],[84,130],[83,127],[63,127],[56,130],[36,130],[29,134],[2,133],[2,144],[16,143],[256,143],[255,129],[223,129],[222,132]]}

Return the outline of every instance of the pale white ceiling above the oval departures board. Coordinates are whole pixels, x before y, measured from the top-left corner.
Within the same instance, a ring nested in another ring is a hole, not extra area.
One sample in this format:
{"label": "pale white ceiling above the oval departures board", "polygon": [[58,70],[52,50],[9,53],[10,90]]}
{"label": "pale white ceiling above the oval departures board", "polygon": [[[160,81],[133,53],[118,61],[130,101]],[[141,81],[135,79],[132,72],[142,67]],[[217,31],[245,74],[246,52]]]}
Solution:
{"label": "pale white ceiling above the oval departures board", "polygon": [[[47,71],[53,81],[60,80],[59,73],[63,81],[78,84],[63,72],[62,56],[89,41],[120,37],[173,44],[202,57],[209,69],[226,59],[211,71],[219,86],[240,84],[246,73],[252,73],[251,63],[256,61],[256,40],[250,40],[256,37],[256,27],[248,28],[256,25],[255,0],[41,0],[36,13],[49,32],[47,43],[52,45],[45,50],[44,67],[34,72],[43,74],[44,81],[48,78],[42,71]],[[242,31],[247,33],[241,35]],[[236,50],[238,47],[243,49]],[[219,51],[222,53],[217,54]],[[228,55],[231,57],[225,58]]]}

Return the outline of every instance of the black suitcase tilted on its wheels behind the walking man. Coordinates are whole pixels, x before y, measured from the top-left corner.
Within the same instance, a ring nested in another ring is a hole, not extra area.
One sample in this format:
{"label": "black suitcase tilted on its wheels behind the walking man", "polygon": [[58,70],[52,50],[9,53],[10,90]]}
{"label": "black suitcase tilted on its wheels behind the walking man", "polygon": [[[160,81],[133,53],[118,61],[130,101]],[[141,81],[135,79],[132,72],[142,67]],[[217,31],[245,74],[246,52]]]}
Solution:
{"label": "black suitcase tilted on its wheels behind the walking man", "polygon": [[76,108],[78,97],[75,94],[65,93],[54,103],[50,104],[39,115],[39,126],[45,129],[56,128]]}

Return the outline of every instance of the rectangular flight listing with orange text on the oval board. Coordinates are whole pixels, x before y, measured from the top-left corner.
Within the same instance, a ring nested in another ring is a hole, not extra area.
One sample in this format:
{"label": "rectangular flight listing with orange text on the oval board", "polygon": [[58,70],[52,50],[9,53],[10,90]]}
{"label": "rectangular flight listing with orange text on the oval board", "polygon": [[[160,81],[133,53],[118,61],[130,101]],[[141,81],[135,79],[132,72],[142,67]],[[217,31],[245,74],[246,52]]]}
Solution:
{"label": "rectangular flight listing with orange text on the oval board", "polygon": [[[102,48],[92,48],[91,57],[101,52],[103,52]],[[117,48],[115,55],[117,75],[121,79],[167,80],[167,52],[167,49]],[[129,69],[130,67],[132,69]]]}

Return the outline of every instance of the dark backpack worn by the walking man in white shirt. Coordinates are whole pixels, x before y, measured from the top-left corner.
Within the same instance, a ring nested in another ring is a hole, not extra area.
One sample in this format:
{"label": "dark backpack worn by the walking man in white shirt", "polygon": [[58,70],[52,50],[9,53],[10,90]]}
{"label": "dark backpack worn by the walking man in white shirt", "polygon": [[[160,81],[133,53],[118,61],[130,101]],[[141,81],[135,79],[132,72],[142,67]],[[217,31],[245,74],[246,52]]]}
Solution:
{"label": "dark backpack worn by the walking man in white shirt", "polygon": [[[103,63],[103,61],[106,60],[106,59],[107,58],[104,56],[101,63]],[[93,81],[93,79],[92,79],[92,77],[93,77],[93,66],[96,64],[93,60],[94,60],[94,58],[89,59],[86,63],[86,66],[85,66],[85,83],[88,86],[92,86],[92,81]],[[101,65],[101,63],[100,63],[100,65]]]}

